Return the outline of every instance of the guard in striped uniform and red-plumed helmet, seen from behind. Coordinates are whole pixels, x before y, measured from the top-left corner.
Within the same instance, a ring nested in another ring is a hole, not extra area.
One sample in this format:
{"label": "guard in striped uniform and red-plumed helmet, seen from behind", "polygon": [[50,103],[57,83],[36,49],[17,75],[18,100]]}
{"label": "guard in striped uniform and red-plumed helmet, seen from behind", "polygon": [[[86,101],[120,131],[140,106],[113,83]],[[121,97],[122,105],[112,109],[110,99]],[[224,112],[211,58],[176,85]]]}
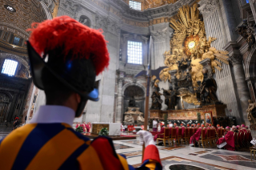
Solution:
{"label": "guard in striped uniform and red-plumed helmet, seen from behind", "polygon": [[102,31],[67,16],[33,23],[30,31],[31,72],[46,105],[30,123],[0,140],[0,169],[162,169],[149,132],[138,132],[146,148],[143,164],[133,168],[110,138],[91,141],[71,127],[88,100],[99,100],[95,77],[109,64]]}

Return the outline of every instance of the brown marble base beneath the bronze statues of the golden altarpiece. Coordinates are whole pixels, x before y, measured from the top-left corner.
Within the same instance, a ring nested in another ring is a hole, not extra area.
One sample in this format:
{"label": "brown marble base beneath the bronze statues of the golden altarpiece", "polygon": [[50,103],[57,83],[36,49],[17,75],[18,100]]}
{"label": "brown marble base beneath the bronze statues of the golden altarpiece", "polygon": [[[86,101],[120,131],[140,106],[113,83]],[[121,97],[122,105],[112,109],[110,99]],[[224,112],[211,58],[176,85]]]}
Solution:
{"label": "brown marble base beneath the bronze statues of the golden altarpiece", "polygon": [[197,119],[197,112],[201,113],[201,119],[204,119],[205,112],[211,111],[214,117],[225,117],[225,104],[209,105],[200,108],[183,109],[183,110],[169,110],[169,111],[157,111],[150,110],[151,119],[165,119],[165,114],[168,114],[167,119]]}

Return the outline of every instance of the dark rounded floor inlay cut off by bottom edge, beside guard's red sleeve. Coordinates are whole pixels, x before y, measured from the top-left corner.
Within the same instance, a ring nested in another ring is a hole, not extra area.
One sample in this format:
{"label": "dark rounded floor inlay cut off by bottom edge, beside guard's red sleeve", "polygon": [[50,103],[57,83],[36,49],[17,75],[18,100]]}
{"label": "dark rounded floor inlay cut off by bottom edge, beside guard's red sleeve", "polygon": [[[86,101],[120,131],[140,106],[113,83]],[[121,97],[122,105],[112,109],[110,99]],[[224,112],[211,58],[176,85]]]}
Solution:
{"label": "dark rounded floor inlay cut off by bottom edge, beside guard's red sleeve", "polygon": [[[189,170],[234,170],[226,167],[217,166],[216,164],[206,164],[203,162],[198,162],[194,160],[188,160],[185,158],[170,156],[161,159],[161,164],[163,165],[164,170],[180,170],[180,169],[189,169]],[[140,167],[141,164],[132,165],[134,168]]]}

